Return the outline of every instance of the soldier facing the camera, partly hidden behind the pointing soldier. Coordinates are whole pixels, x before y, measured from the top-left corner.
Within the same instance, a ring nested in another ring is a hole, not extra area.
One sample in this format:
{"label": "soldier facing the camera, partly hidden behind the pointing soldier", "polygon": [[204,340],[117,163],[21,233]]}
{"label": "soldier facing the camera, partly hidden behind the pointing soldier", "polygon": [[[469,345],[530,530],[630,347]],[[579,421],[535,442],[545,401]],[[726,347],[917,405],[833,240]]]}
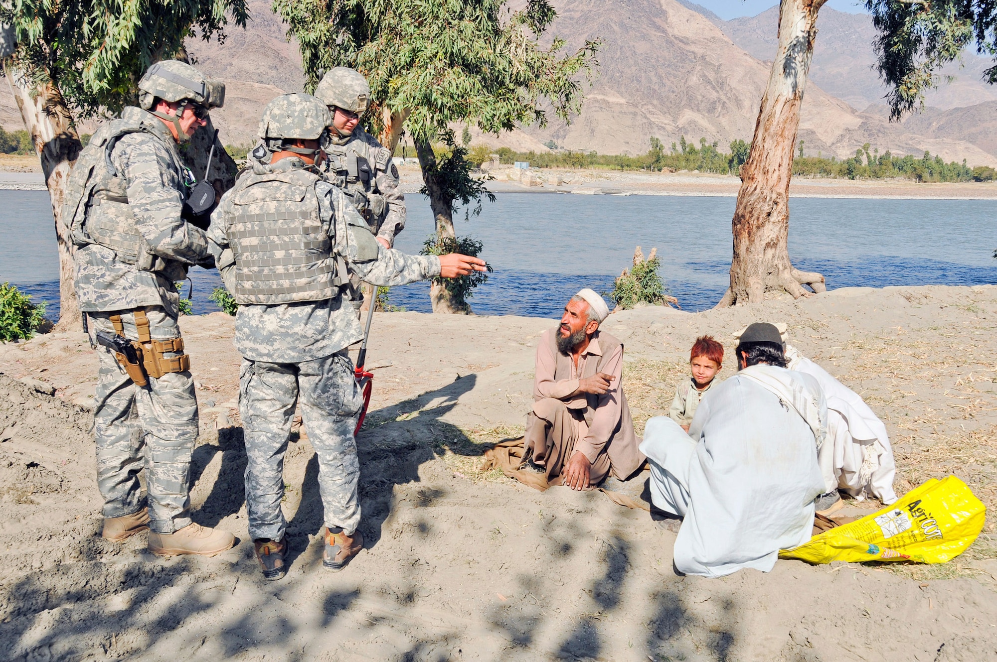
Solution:
{"label": "soldier facing the camera, partly hidden behind the pointing soldier", "polygon": [[391,151],[359,126],[370,94],[367,79],[346,67],[331,69],[315,88],[315,96],[332,114],[329,144],[324,148],[329,179],[346,192],[380,243],[391,248],[405,227],[405,195]]}

